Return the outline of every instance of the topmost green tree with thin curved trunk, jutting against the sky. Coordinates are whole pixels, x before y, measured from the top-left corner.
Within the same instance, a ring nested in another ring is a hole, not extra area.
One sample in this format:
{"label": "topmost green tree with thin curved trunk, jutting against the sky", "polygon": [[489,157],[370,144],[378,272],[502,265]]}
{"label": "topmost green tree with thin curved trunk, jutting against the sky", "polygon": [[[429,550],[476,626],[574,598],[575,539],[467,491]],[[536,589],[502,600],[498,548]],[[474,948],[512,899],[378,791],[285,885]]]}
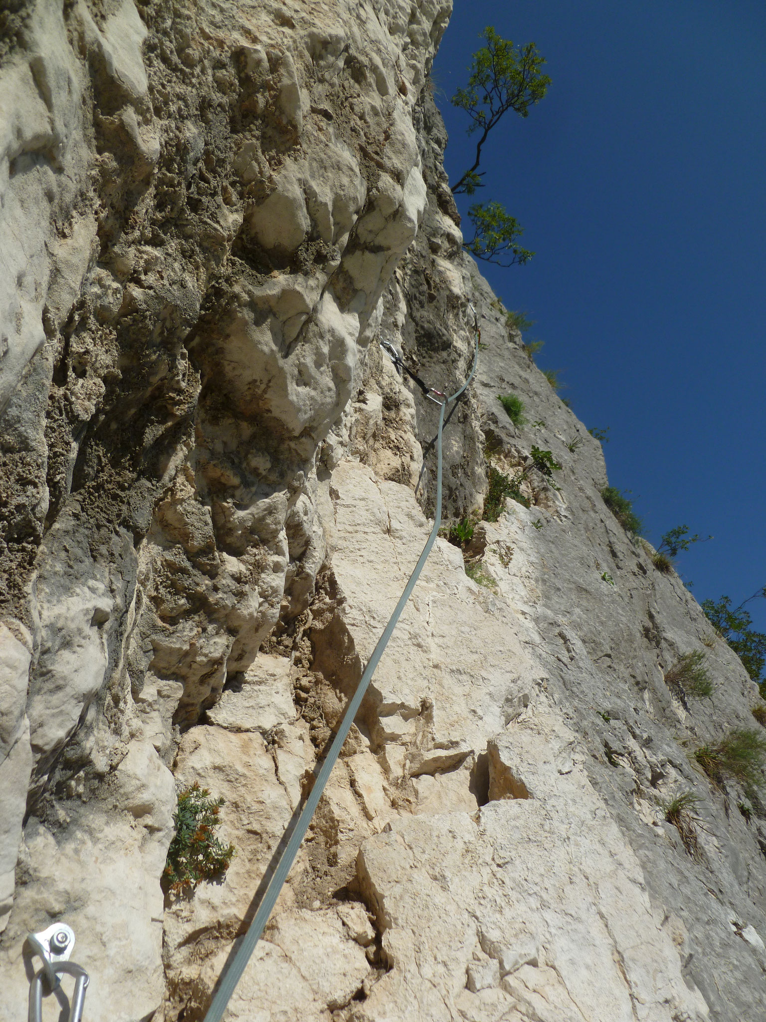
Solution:
{"label": "topmost green tree with thin curved trunk, jutting against the sky", "polygon": [[481,38],[487,45],[473,55],[468,85],[452,96],[452,105],[471,118],[468,134],[480,133],[473,166],[451,186],[454,194],[473,195],[481,187],[483,175],[477,173],[481,149],[504,113],[515,110],[522,118],[529,117],[529,107],[542,99],[550,85],[548,76],[540,74],[545,61],[534,43],[514,46],[491,26],[487,26]]}

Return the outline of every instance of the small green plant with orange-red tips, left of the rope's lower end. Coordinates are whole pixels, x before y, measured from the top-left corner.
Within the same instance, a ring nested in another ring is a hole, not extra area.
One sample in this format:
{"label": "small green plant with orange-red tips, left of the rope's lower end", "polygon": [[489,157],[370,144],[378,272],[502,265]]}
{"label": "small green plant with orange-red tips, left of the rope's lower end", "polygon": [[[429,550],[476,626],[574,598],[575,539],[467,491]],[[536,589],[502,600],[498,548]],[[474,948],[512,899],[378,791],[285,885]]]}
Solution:
{"label": "small green plant with orange-red tips, left of the rope's lower end", "polygon": [[196,781],[179,792],[178,808],[173,815],[176,836],[167,849],[161,878],[165,893],[194,890],[203,880],[221,877],[229,869],[236,849],[216,837],[223,804],[223,798],[210,798],[207,788],[200,788]]}

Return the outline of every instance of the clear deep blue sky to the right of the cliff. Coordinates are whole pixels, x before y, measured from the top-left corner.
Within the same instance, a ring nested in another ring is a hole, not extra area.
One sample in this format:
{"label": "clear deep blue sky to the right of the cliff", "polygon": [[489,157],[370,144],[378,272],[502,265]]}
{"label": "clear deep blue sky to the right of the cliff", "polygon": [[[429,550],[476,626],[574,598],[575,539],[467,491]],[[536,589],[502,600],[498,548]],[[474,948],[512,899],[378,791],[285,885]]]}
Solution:
{"label": "clear deep blue sky to the right of the cliff", "polygon": [[[487,25],[535,42],[553,85],[458,196],[501,201],[536,254],[481,265],[575,413],[610,427],[610,483],[648,538],[713,533],[678,569],[736,605],[766,585],[766,5],[456,0],[434,67],[450,181],[473,148],[449,97]],[[766,631],[766,600],[748,609]]]}

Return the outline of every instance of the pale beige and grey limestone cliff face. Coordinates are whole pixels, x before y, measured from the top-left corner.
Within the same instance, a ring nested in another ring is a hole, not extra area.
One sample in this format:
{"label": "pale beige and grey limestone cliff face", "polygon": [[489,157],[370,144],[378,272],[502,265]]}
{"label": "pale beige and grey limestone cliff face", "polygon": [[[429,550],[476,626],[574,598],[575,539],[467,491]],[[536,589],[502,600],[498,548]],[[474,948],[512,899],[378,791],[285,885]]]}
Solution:
{"label": "pale beige and grey limestone cliff face", "polygon": [[[469,304],[446,512],[480,512],[487,459],[524,501],[476,525],[473,578],[437,541],[228,1017],[766,1013],[766,807],[689,758],[757,691],[462,252],[449,13],[0,15],[2,1022],[58,920],[87,1019],[203,1017],[430,528],[438,409],[380,343],[454,388]],[[710,699],[665,683],[693,650]],[[195,782],[237,854],[163,893]]]}

